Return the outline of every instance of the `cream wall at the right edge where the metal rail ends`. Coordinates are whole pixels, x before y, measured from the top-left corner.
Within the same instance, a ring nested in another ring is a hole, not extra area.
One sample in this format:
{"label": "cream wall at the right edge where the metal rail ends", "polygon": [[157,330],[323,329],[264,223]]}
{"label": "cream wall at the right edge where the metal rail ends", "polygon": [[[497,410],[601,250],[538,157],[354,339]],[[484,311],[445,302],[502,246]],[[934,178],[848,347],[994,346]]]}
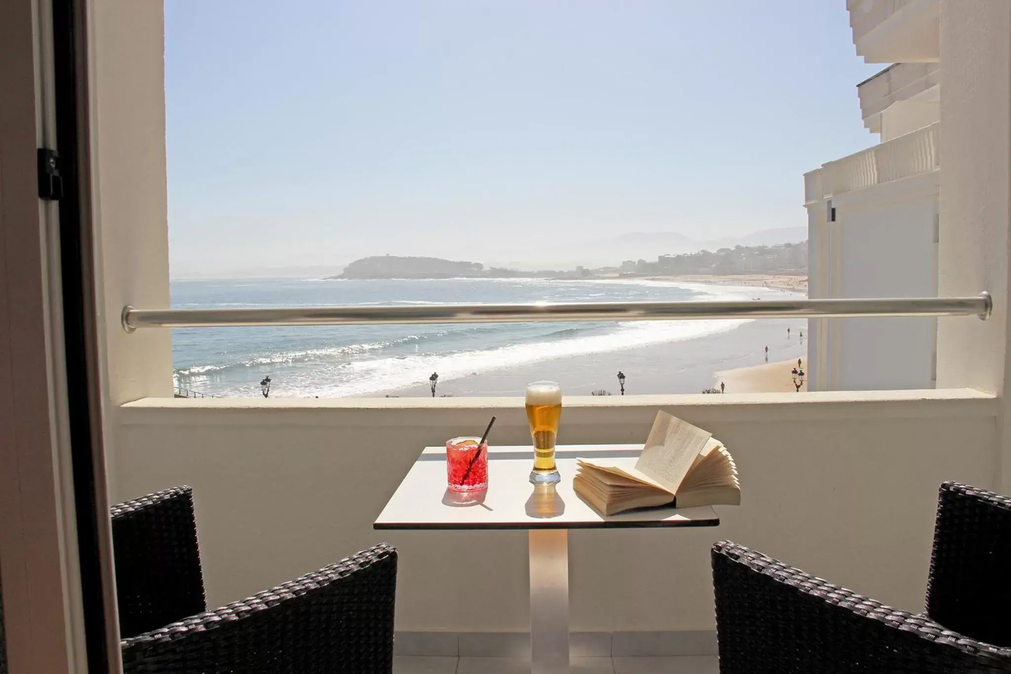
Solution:
{"label": "cream wall at the right edge where the metal rail ends", "polygon": [[999,448],[1011,490],[1008,238],[1011,223],[1011,3],[942,0],[940,279],[942,295],[988,290],[993,317],[941,319],[937,383],[1002,396]]}

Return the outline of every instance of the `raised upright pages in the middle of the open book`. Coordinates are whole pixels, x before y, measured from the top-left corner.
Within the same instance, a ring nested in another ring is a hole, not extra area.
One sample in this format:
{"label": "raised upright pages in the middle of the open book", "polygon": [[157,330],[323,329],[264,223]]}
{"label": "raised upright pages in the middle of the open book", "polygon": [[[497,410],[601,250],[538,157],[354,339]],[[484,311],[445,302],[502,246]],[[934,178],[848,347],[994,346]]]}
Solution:
{"label": "raised upright pages in the middle of the open book", "polygon": [[713,434],[661,410],[656,413],[635,467],[670,493],[677,493],[692,463],[712,437]]}

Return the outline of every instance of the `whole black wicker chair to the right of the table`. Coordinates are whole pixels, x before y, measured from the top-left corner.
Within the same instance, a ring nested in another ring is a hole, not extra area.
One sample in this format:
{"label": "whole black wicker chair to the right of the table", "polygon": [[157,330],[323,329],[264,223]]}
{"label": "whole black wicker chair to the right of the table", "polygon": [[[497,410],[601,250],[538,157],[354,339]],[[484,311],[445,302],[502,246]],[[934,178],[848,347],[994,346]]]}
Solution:
{"label": "whole black wicker chair to the right of the table", "polygon": [[713,584],[722,674],[1011,672],[1011,498],[941,485],[925,613],[729,541]]}

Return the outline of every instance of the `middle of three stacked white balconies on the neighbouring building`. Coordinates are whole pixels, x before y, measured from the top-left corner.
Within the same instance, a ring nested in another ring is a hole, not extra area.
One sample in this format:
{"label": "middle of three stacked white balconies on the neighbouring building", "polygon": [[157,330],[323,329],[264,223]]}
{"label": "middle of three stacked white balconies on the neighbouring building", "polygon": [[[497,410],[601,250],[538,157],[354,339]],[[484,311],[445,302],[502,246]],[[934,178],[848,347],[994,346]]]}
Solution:
{"label": "middle of three stacked white balconies on the neighbouring building", "polygon": [[894,64],[857,85],[863,125],[891,140],[940,121],[940,64]]}

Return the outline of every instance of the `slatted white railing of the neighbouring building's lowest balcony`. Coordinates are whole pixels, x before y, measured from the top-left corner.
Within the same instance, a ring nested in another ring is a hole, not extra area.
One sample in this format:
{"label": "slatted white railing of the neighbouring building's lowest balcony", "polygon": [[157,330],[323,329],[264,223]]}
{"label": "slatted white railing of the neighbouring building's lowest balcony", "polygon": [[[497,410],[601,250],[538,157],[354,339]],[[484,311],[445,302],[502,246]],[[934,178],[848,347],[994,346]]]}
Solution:
{"label": "slatted white railing of the neighbouring building's lowest balcony", "polygon": [[829,162],[804,176],[805,203],[940,169],[940,124]]}

